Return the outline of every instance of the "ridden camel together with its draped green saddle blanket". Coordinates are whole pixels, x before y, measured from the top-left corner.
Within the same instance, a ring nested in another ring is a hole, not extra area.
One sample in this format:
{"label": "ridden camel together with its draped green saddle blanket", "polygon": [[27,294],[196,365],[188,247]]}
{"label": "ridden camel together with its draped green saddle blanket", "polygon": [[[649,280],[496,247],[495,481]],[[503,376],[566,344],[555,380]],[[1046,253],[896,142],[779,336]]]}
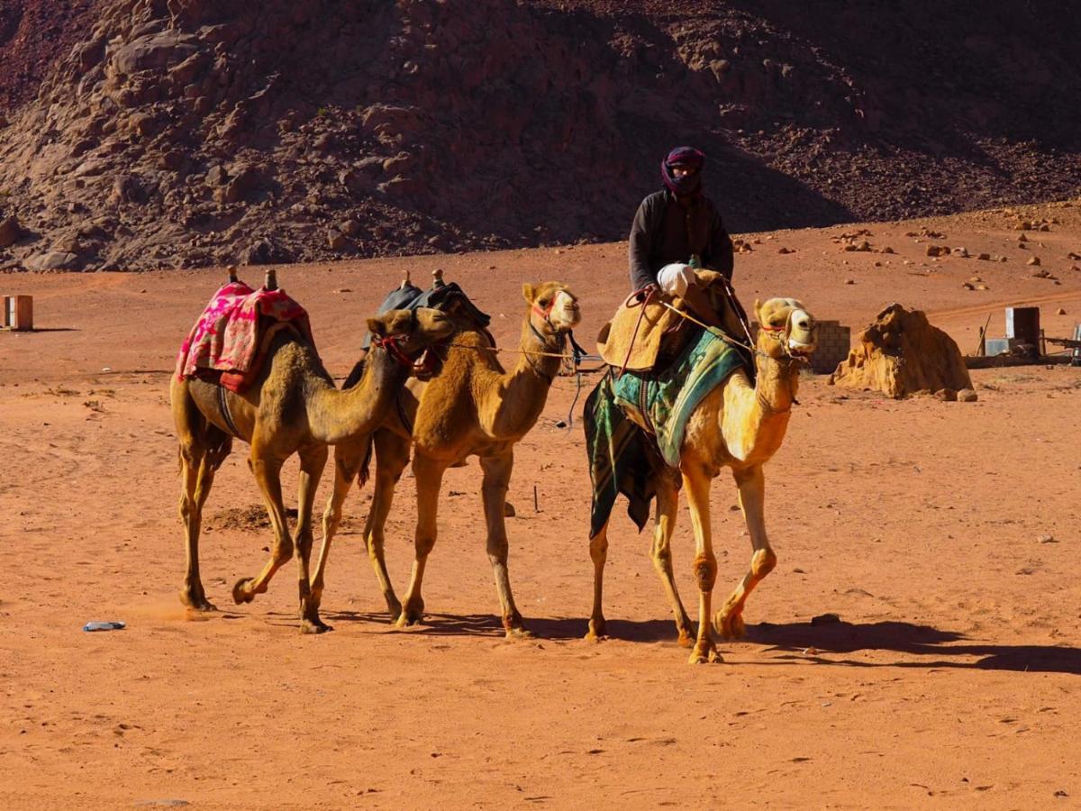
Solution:
{"label": "ridden camel together with its draped green saddle blanket", "polygon": [[[712,289],[709,277],[700,279]],[[672,307],[671,313],[676,313],[678,303]],[[682,348],[671,364],[623,374],[613,367],[586,402],[586,443],[593,483],[589,541],[593,608],[587,639],[605,636],[602,586],[608,528],[619,493],[628,497],[628,513],[639,529],[644,527],[650,502],[656,498],[653,563],[671,603],[679,641],[694,647],[691,663],[720,661],[711,628],[723,637],[743,635],[747,596],[777,561],[765,531],[762,468],[785,438],[799,372],[814,351],[816,329],[814,318],[793,298],[756,302],[755,316],[760,325],[758,338],[753,347],[743,347],[751,351],[740,357],[740,347],[733,346],[740,342],[731,335],[685,313],[672,315],[671,319],[694,324],[691,334],[682,337]],[[666,317],[665,321],[670,325],[671,319]],[[649,354],[656,356],[652,348]],[[717,559],[709,488],[722,467],[730,468],[735,479],[753,555],[750,571],[711,617]],[[681,484],[686,490],[695,539],[697,634],[672,574],[670,547]]]}

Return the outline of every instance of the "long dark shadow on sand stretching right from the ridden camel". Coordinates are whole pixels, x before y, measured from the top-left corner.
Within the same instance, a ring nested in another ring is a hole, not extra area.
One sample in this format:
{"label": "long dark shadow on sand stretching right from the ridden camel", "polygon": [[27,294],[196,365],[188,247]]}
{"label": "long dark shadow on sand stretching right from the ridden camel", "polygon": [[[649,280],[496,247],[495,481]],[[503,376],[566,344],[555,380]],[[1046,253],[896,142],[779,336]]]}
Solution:
{"label": "long dark shadow on sand stretching right from the ridden camel", "polygon": [[[1016,673],[1065,673],[1081,676],[1081,649],[1055,644],[995,644],[969,640],[963,634],[930,625],[903,622],[829,625],[789,623],[748,625],[745,641],[766,650],[790,652],[806,659],[806,649],[824,654],[859,651],[895,651],[917,661],[864,662],[855,659],[816,657],[824,664],[851,667],[958,667]],[[977,656],[975,662],[965,660]]]}

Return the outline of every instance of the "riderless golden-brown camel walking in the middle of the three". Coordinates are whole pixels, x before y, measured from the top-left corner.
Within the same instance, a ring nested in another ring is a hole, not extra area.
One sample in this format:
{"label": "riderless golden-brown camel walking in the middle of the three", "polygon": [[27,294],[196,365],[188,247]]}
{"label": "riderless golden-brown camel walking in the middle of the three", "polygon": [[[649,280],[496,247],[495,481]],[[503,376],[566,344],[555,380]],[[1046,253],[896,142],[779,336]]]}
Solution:
{"label": "riderless golden-brown camel walking in the middle of the three", "polygon": [[[486,334],[468,325],[448,349],[441,372],[428,382],[411,381],[402,389],[400,410],[391,413],[364,443],[334,449],[334,492],[323,514],[323,545],[312,581],[312,599],[322,594],[331,541],[342,520],[349,487],[374,448],[376,467],[364,544],[398,627],[424,617],[421,585],[436,544],[437,509],[443,471],[479,456],[481,494],[488,530],[488,555],[495,575],[503,626],[508,638],[530,637],[515,606],[507,573],[504,508],[513,466],[513,447],[536,423],[559,372],[566,334],[580,321],[577,298],[564,284],[549,281],[522,290],[529,310],[522,323],[517,364],[508,372],[496,360]],[[404,604],[398,600],[384,560],[384,527],[395,486],[413,447],[417,523],[415,559]]]}

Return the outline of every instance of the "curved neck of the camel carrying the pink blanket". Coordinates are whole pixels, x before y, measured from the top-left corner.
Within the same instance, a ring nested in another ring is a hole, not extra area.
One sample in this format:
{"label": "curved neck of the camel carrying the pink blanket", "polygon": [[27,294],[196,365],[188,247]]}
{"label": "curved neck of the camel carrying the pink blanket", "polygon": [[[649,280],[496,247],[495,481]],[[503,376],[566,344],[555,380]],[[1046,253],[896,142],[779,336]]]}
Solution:
{"label": "curved neck of the camel carrying the pink blanket", "polygon": [[391,358],[386,349],[373,346],[357,385],[341,391],[328,384],[311,393],[308,421],[312,436],[321,442],[337,444],[371,433],[386,416],[395,393],[408,375],[408,367]]}

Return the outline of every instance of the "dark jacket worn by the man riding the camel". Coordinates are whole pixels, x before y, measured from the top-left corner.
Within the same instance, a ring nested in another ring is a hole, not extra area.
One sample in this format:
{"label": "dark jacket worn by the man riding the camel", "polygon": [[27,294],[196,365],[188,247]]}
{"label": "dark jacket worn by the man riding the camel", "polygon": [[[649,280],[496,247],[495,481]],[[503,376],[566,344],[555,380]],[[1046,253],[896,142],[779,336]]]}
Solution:
{"label": "dark jacket worn by the man riding the camel", "polygon": [[667,189],[642,200],[630,227],[631,290],[655,284],[660,268],[695,253],[703,267],[732,279],[732,240],[712,200],[699,196],[683,205]]}

